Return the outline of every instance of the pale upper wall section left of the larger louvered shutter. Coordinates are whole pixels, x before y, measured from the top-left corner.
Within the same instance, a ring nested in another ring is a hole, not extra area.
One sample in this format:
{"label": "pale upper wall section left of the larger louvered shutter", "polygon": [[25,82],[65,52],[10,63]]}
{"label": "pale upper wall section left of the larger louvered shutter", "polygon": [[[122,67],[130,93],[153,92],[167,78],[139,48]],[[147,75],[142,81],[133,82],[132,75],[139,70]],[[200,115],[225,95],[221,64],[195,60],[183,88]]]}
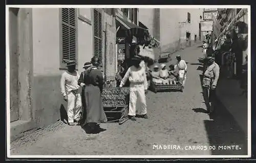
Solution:
{"label": "pale upper wall section left of the larger louvered shutter", "polygon": [[33,72],[59,74],[59,9],[33,8]]}

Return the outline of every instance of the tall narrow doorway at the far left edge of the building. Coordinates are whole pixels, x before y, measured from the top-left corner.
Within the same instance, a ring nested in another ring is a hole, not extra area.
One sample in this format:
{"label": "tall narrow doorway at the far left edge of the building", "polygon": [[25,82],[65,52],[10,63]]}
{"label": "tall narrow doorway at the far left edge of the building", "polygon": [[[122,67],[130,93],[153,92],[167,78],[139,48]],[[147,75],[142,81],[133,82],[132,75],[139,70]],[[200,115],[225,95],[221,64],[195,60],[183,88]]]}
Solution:
{"label": "tall narrow doorway at the far left edge of the building", "polygon": [[18,8],[9,8],[10,121],[18,120]]}

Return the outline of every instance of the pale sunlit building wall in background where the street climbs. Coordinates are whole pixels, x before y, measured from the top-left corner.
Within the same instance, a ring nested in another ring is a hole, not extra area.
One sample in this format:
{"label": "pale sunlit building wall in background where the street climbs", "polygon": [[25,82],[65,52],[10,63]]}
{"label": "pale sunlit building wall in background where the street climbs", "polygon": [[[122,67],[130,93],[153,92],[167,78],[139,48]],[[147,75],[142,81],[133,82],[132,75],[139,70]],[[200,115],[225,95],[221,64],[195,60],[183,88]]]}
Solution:
{"label": "pale sunlit building wall in background where the street climbs", "polygon": [[203,9],[139,9],[139,23],[160,42],[154,49],[155,58],[200,41],[202,14]]}

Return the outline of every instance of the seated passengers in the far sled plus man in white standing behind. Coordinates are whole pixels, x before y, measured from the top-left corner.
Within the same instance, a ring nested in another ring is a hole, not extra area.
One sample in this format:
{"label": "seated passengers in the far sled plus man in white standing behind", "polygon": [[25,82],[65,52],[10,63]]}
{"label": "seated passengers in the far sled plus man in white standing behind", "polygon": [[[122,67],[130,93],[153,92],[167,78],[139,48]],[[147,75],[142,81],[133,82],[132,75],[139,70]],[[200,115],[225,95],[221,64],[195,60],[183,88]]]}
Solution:
{"label": "seated passengers in the far sled plus man in white standing behind", "polygon": [[182,88],[185,86],[187,64],[184,60],[181,60],[180,56],[176,57],[177,64],[171,64],[169,70],[166,69],[165,64],[161,64],[161,69],[157,65],[154,66],[154,71],[152,71],[152,82],[156,84],[177,84],[180,82]]}

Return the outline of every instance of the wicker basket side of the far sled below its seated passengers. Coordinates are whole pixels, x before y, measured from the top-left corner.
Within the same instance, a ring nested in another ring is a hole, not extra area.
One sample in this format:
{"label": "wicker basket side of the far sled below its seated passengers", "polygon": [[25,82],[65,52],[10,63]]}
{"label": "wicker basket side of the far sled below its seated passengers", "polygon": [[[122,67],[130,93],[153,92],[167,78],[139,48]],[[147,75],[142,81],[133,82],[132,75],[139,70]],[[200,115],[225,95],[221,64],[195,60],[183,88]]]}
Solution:
{"label": "wicker basket side of the far sled below its seated passengers", "polygon": [[150,90],[157,93],[162,91],[183,91],[182,85],[180,82],[177,82],[176,84],[158,84],[151,82]]}

